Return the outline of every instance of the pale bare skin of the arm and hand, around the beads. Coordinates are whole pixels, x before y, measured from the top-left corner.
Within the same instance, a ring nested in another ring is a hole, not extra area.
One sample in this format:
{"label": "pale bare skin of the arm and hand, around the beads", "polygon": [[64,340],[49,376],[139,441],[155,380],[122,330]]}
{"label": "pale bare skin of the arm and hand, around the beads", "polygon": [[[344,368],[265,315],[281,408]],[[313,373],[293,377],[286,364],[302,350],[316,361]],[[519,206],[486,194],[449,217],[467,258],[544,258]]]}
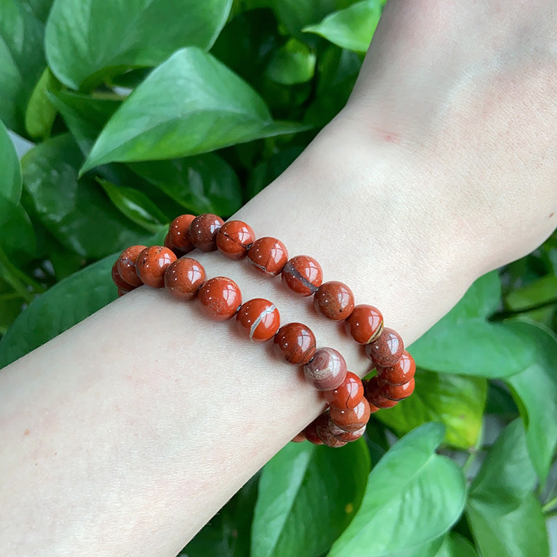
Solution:
{"label": "pale bare skin of the arm and hand, around the beads", "polygon": [[[409,344],[556,227],[556,99],[554,0],[390,0],[347,107],[235,217]],[[307,299],[192,256],[366,372]],[[322,407],[233,323],[142,287],[0,373],[1,553],[173,557]]]}

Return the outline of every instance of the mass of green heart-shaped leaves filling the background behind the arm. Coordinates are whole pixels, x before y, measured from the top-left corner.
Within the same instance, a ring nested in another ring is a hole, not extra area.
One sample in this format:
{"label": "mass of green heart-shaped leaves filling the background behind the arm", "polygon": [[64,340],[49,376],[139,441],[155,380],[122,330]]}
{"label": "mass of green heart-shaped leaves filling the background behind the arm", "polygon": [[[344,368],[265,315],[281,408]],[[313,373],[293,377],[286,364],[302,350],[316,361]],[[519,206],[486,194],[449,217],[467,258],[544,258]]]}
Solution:
{"label": "mass of green heart-shaped leaves filling the background behind the arm", "polygon": [[[343,107],[379,0],[0,0],[0,367],[116,297],[113,258],[227,217]],[[33,142],[19,162],[8,130]],[[290,444],[190,557],[549,555],[557,237],[411,347],[416,393]]]}

